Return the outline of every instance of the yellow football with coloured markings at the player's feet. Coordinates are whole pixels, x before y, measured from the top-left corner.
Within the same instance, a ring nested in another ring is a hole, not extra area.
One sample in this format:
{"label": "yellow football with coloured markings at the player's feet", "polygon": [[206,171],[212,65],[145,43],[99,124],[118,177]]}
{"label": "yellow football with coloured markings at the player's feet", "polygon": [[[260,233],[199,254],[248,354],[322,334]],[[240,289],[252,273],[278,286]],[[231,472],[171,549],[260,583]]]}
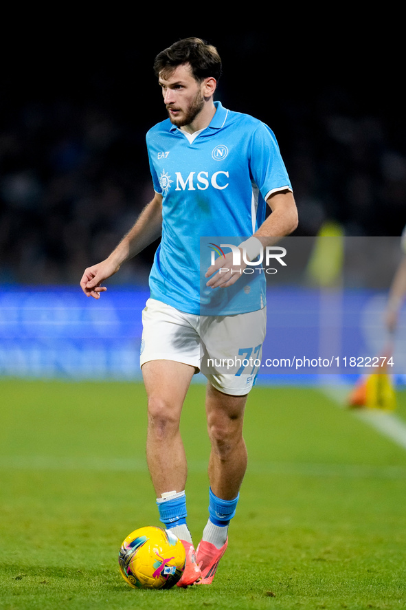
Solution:
{"label": "yellow football with coloured markings at the player's feet", "polygon": [[121,545],[120,573],[133,589],[170,589],[185,569],[185,547],[170,530],[140,527]]}

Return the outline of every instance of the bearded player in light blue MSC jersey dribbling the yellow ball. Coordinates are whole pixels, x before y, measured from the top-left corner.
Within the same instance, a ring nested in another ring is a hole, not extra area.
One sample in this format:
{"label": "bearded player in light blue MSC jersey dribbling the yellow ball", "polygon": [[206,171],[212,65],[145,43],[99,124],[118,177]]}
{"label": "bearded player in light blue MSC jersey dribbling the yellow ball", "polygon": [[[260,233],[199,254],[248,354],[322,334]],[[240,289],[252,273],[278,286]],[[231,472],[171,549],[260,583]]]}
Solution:
{"label": "bearded player in light blue MSC jersey dribbling the yellow ball", "polygon": [[[161,235],[142,316],[146,455],[160,519],[185,545],[187,562],[178,583],[185,587],[212,582],[227,548],[247,466],[243,416],[255,374],[205,373],[209,519],[196,551],[186,523],[187,463],[179,433],[185,395],[201,369],[202,343],[208,356],[241,353],[240,329],[245,328],[247,350],[260,354],[264,278],[243,272],[264,246],[295,229],[297,209],[271,129],[214,101],[221,76],[215,47],[196,38],[177,41],[157,55],[154,69],[168,111],[168,119],[146,136],[155,195],[115,250],[84,271],[80,284],[87,296],[100,298],[106,290],[102,283]],[[241,75],[240,86],[252,86],[249,74]],[[271,214],[266,218],[267,205]],[[209,260],[202,287],[200,238],[223,235],[246,238],[237,239],[245,259],[240,257],[236,267],[232,252],[223,251]],[[202,303],[209,303],[204,320]],[[222,327],[218,320],[227,323]]]}

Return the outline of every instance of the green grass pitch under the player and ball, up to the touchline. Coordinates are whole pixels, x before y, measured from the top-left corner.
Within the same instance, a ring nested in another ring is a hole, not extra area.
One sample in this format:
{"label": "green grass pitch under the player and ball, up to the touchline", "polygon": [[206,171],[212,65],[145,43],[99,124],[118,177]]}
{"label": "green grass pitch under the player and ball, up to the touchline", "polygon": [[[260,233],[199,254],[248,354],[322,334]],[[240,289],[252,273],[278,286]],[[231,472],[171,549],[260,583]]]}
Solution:
{"label": "green grass pitch under the player and ball, up to the touchline", "polygon": [[[191,386],[182,419],[196,544],[204,392]],[[406,608],[406,450],[305,387],[249,396],[249,468],[212,585],[128,587],[118,549],[159,525],[145,403],[137,383],[0,380],[1,610]]]}

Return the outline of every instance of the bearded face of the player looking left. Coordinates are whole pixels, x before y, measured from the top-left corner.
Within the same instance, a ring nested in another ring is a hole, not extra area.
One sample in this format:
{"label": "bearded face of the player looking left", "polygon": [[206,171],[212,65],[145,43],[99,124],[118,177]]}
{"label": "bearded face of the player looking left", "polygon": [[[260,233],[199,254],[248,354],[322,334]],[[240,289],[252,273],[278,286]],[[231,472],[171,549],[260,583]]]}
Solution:
{"label": "bearded face of the player looking left", "polygon": [[188,65],[179,65],[173,72],[159,76],[163,101],[171,122],[177,127],[191,125],[203,110],[203,83],[195,80]]}

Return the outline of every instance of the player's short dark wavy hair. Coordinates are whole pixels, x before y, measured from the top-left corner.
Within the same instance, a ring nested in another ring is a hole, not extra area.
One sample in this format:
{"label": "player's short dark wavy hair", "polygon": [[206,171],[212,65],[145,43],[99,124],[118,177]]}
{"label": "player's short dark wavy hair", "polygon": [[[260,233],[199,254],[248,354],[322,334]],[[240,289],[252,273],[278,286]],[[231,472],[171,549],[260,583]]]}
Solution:
{"label": "player's short dark wavy hair", "polygon": [[154,62],[156,76],[168,76],[177,66],[190,64],[192,74],[200,82],[205,78],[221,76],[221,58],[216,47],[199,38],[185,38],[161,51]]}

